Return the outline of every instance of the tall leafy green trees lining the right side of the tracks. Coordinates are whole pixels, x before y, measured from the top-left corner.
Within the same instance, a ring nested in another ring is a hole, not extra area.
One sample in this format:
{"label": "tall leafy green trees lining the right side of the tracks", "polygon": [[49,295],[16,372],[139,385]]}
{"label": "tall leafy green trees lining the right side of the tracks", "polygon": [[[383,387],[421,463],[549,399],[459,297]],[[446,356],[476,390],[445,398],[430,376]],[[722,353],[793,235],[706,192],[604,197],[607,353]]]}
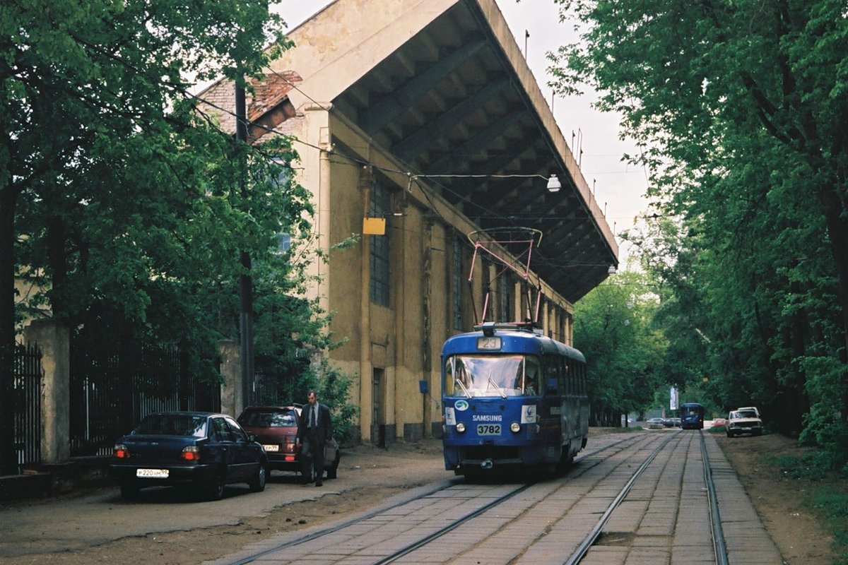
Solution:
{"label": "tall leafy green trees lining the right side of the tracks", "polygon": [[583,26],[580,46],[551,54],[557,86],[589,83],[600,108],[622,114],[623,134],[644,147],[631,159],[651,171],[650,195],[672,226],[633,236],[675,294],[667,322],[692,319],[709,340],[679,351],[702,348],[695,373],[709,375],[724,407],[762,400],[784,431],[839,436],[845,3],[555,1]]}

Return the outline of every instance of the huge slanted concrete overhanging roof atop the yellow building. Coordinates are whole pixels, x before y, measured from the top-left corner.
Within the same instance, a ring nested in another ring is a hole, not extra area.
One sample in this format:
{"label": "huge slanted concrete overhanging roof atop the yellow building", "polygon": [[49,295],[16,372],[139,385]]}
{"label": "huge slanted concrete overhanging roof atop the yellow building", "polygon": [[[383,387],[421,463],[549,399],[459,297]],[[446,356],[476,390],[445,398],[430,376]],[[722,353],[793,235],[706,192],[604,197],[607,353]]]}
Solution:
{"label": "huge slanted concrete overhanging roof atop the yellow building", "polygon": [[[618,264],[604,213],[494,0],[336,0],[274,64],[483,229],[544,233],[531,269],[570,302]],[[556,174],[560,191],[548,191]]]}

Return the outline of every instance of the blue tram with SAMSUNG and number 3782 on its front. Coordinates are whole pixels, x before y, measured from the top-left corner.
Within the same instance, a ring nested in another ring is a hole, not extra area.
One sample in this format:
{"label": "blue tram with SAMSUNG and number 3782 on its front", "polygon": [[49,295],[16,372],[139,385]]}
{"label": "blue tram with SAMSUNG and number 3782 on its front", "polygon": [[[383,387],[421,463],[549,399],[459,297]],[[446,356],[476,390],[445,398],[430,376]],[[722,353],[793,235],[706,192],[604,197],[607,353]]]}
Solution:
{"label": "blue tram with SAMSUNG and number 3782 on its front", "polygon": [[589,435],[581,352],[530,324],[486,323],[442,347],[444,467],[565,468]]}

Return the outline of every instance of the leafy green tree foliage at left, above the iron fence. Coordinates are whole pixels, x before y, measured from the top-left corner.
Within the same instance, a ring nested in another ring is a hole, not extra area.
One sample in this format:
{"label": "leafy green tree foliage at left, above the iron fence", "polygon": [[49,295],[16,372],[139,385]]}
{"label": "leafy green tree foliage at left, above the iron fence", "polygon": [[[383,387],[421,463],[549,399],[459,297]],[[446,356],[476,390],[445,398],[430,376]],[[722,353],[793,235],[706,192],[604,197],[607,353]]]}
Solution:
{"label": "leafy green tree foliage at left, above the iron fence", "polygon": [[[0,428],[13,429],[16,274],[41,284],[29,306],[72,327],[114,320],[122,340],[203,348],[232,321],[235,252],[267,257],[277,233],[307,227],[296,185],[234,190],[237,163],[265,155],[198,114],[186,78],[257,76],[286,46],[261,0],[0,5]],[[13,462],[3,433],[0,465]]]}

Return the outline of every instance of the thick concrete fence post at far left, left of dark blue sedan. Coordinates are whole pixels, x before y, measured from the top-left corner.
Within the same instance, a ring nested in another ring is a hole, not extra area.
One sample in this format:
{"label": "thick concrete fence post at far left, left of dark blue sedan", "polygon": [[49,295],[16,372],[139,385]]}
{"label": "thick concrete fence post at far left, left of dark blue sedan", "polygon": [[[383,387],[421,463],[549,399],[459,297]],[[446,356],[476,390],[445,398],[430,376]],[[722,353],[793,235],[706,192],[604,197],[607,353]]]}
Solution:
{"label": "thick concrete fence post at far left, left of dark blue sedan", "polygon": [[24,339],[42,351],[42,463],[64,463],[70,458],[70,330],[36,319]]}

